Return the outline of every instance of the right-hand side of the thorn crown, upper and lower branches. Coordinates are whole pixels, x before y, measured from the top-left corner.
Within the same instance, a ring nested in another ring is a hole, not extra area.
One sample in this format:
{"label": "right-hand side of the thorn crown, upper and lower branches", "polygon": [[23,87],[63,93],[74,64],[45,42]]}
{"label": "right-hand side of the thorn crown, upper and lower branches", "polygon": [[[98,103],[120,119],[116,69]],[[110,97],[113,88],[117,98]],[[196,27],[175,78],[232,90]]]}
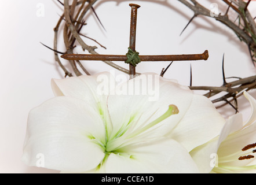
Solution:
{"label": "right-hand side of the thorn crown, upper and lower branches", "polygon": [[[214,18],[217,21],[220,21],[222,24],[231,28],[237,37],[248,46],[249,54],[253,65],[255,66],[256,62],[256,23],[255,18],[251,16],[248,11],[248,6],[251,1],[244,2],[242,0],[223,0],[228,6],[224,14],[214,14],[212,10],[209,10],[202,6],[195,0],[178,0],[194,13],[192,18],[189,20],[186,27],[182,32],[188,27],[192,21],[198,16],[206,16]],[[233,14],[237,14],[236,20],[232,20],[230,17]],[[182,34],[181,32],[181,34]],[[213,100],[213,103],[224,102],[221,105],[218,105],[217,108],[221,108],[225,105],[231,105],[232,108],[238,112],[237,98],[242,95],[243,91],[248,91],[253,88],[256,88],[256,76],[247,77],[245,79],[239,79],[231,83],[226,82],[226,77],[224,73],[224,57],[222,60],[222,74],[223,74],[223,84],[221,87],[193,87],[191,90],[206,90],[209,91],[207,94],[204,94],[206,97],[210,98],[214,95],[220,94],[221,92],[226,92],[225,95],[222,95],[219,98]],[[232,102],[235,102],[232,104]]]}

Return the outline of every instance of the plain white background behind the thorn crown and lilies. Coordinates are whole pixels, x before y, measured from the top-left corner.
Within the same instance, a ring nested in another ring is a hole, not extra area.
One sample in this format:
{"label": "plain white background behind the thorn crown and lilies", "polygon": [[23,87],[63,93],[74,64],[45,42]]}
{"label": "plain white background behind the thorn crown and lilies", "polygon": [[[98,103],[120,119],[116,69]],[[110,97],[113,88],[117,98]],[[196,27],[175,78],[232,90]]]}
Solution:
{"label": "plain white background behind the thorn crown and lilies", "polygon": [[[117,3],[119,2],[119,3]],[[199,1],[207,8],[218,1]],[[90,12],[82,33],[97,39],[107,50],[96,45],[101,54],[125,54],[129,46],[130,6],[138,9],[136,50],[140,54],[194,54],[209,50],[208,61],[174,62],[164,77],[177,79],[189,85],[190,64],[194,86],[222,85],[222,56],[225,53],[226,77],[255,75],[247,46],[233,32],[212,18],[197,17],[181,35],[193,12],[176,0],[169,1],[101,1],[94,5],[106,31]],[[40,6],[43,5],[43,6]],[[43,7],[43,14],[39,8]],[[251,2],[250,12],[256,16],[256,2]],[[54,0],[1,0],[0,1],[0,172],[45,173],[56,172],[28,167],[21,161],[28,112],[46,99],[52,98],[50,79],[63,78],[64,73],[54,61],[53,52],[39,42],[53,47],[54,32],[61,5]],[[58,49],[64,51],[62,37]],[[76,49],[81,53],[81,49]],[[68,67],[67,62],[62,60]],[[103,62],[83,61],[94,74],[113,68]],[[124,63],[117,64],[127,68]],[[160,73],[169,62],[143,62],[137,72]],[[69,68],[69,67],[68,67]],[[128,68],[127,68],[128,69]],[[120,72],[116,71],[116,74]],[[228,80],[230,81],[230,80]],[[200,92],[198,92],[200,93]],[[255,91],[250,91],[256,97]],[[239,99],[244,120],[250,115],[250,105],[244,97]],[[232,108],[218,109],[225,117],[235,113]]]}

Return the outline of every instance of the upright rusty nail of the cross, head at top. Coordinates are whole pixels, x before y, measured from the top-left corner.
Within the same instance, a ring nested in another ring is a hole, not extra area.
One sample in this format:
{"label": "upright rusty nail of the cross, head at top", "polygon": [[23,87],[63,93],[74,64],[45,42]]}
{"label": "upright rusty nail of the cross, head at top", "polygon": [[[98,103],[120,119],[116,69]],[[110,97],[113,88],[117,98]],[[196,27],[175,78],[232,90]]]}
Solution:
{"label": "upright rusty nail of the cross, head at top", "polygon": [[[137,9],[140,8],[140,5],[130,3],[131,7],[131,24],[130,24],[130,49],[135,51],[136,44],[136,26],[137,26]],[[133,65],[130,64],[130,78],[136,75],[136,69]]]}

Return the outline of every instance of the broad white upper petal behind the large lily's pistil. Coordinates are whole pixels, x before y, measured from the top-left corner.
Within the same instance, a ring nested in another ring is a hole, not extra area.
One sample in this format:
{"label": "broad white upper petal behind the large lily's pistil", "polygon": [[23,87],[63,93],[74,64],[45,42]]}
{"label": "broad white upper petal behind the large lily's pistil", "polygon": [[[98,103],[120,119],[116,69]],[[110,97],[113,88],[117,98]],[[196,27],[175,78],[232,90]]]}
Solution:
{"label": "broad white upper petal behind the large lily's pistil", "polygon": [[[182,119],[193,97],[193,92],[188,87],[166,80],[155,73],[144,73],[116,88],[127,90],[127,94],[108,97],[113,134],[126,127],[133,131],[138,130],[162,116],[169,105],[175,105],[180,112],[161,121],[157,126],[158,131],[154,131],[153,136],[162,136],[170,132]],[[129,91],[133,93],[129,94]]]}

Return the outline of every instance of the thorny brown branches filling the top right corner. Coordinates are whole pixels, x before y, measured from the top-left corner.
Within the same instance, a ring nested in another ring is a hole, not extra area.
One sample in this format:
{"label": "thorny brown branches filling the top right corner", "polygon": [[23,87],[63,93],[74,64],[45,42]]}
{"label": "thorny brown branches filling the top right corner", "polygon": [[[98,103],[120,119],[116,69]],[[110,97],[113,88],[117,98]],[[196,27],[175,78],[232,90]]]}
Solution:
{"label": "thorny brown branches filling the top right corner", "polygon": [[[235,32],[237,37],[248,46],[251,60],[253,61],[253,64],[255,66],[256,23],[253,16],[251,16],[250,12],[247,9],[251,1],[244,2],[243,0],[223,0],[222,2],[226,3],[227,5],[226,12],[224,14],[215,14],[213,10],[205,8],[195,0],[178,1],[186,5],[194,12],[193,17],[191,18],[191,20],[189,20],[188,24],[192,23],[195,17],[206,16],[214,18],[215,20],[220,21],[222,24],[231,28]],[[236,20],[232,20],[231,17],[233,17],[233,14],[237,14]],[[188,24],[185,28],[188,27]]]}

